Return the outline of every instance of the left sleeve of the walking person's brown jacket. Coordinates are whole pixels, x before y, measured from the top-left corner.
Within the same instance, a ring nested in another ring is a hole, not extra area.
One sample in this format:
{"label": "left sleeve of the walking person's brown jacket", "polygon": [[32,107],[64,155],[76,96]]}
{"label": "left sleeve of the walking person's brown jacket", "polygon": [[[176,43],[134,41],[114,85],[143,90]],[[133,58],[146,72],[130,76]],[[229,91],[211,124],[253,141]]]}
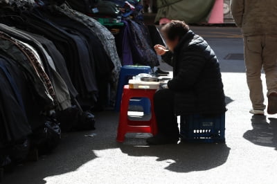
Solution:
{"label": "left sleeve of the walking person's brown jacket", "polygon": [[233,15],[233,19],[235,20],[235,24],[237,24],[237,26],[241,28],[244,14],[244,0],[232,0],[231,12]]}

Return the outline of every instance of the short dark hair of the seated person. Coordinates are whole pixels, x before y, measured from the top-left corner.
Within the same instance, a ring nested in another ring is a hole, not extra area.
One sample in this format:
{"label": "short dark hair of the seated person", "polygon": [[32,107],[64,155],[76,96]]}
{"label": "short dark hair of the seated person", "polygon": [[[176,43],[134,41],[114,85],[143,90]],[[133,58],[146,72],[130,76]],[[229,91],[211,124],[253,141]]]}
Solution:
{"label": "short dark hair of the seated person", "polygon": [[171,21],[161,28],[163,34],[171,41],[175,40],[177,37],[181,39],[181,37],[188,33],[188,30],[190,30],[190,27],[184,21]]}

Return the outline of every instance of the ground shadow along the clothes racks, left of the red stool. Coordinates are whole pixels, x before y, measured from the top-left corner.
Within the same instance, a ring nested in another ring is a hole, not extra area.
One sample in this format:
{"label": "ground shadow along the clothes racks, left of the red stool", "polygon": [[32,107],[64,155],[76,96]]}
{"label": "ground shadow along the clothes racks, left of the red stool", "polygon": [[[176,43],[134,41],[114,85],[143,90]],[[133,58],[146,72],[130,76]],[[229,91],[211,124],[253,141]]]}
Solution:
{"label": "ground shadow along the clothes racks, left of the red stool", "polygon": [[[13,172],[5,174],[3,184],[44,184],[48,176],[74,172],[85,163],[96,159],[95,150],[118,148],[116,142],[118,113],[107,111],[97,114],[96,118],[99,118],[96,120],[96,131],[62,134],[62,141],[53,154],[40,156],[37,162],[18,165]],[[91,134],[96,135],[86,137]]]}

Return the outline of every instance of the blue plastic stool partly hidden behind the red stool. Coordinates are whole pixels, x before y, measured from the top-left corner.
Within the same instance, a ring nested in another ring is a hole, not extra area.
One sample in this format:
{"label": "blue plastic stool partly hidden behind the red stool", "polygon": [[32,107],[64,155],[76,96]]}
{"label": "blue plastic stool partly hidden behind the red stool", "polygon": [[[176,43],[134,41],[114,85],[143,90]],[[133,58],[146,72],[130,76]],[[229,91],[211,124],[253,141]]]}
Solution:
{"label": "blue plastic stool partly hidden behind the red stool", "polygon": [[[140,73],[151,73],[151,71],[150,66],[125,65],[121,67],[116,95],[116,111],[120,111],[123,88],[126,84],[128,84],[129,80]],[[150,114],[150,101],[148,98],[136,98],[136,100],[130,100],[130,104],[142,106],[143,112],[145,114]]]}

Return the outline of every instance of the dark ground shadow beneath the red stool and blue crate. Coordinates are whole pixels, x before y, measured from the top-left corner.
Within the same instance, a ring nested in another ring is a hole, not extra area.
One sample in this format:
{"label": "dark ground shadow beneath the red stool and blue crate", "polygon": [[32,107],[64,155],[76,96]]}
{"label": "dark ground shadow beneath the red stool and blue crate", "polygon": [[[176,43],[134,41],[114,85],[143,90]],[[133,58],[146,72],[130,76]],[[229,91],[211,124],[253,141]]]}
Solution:
{"label": "dark ground shadow beneath the red stool and blue crate", "polygon": [[225,144],[188,144],[134,146],[121,145],[121,151],[128,156],[153,156],[166,162],[172,172],[197,172],[213,169],[226,163],[230,148]]}

